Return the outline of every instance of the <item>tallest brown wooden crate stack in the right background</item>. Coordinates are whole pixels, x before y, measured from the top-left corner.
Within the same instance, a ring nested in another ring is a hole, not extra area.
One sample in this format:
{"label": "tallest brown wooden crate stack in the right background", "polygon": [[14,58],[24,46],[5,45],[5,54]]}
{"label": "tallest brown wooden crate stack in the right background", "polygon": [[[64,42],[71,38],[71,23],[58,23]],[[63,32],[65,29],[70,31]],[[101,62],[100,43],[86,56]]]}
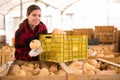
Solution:
{"label": "tallest brown wooden crate stack in the right background", "polygon": [[114,43],[114,26],[95,26],[94,38],[98,38],[100,43]]}

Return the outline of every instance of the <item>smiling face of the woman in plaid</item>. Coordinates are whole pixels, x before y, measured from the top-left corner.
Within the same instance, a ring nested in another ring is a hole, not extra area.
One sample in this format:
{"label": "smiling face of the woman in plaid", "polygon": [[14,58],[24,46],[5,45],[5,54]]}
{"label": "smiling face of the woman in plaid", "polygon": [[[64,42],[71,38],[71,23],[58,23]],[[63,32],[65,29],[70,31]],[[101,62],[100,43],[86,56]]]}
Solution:
{"label": "smiling face of the woman in plaid", "polygon": [[27,15],[27,18],[31,27],[37,26],[41,19],[41,11],[33,10],[29,15]]}

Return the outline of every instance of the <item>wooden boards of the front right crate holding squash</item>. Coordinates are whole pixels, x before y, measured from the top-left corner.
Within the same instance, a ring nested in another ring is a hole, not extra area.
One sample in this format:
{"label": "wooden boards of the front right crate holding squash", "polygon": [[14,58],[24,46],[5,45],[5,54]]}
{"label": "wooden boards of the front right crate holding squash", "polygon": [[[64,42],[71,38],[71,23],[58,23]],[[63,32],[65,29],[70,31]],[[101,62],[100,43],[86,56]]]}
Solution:
{"label": "wooden boards of the front right crate holding squash", "polygon": [[[119,64],[116,64],[116,63],[113,63],[110,61],[106,61],[104,59],[97,59],[97,60],[106,62],[108,64],[111,64],[111,65],[114,65],[114,66],[117,66],[118,68],[120,68]],[[117,62],[119,62],[119,61],[117,61]],[[120,74],[115,74],[115,75],[75,75],[75,72],[73,70],[71,70],[65,63],[62,63],[61,65],[64,66],[68,77],[71,78],[70,80],[120,80]]]}

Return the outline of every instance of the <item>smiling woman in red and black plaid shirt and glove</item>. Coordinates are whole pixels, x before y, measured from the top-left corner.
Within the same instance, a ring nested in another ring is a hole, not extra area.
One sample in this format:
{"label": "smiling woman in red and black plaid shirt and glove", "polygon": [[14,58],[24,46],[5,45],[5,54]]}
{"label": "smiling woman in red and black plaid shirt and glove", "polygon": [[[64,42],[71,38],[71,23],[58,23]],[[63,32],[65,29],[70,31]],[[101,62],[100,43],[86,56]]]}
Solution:
{"label": "smiling woman in red and black plaid shirt and glove", "polygon": [[34,61],[38,60],[41,49],[31,50],[29,44],[32,40],[39,39],[41,34],[47,34],[47,28],[41,22],[41,9],[39,6],[30,5],[27,8],[26,16],[27,18],[15,32],[15,58],[23,61]]}

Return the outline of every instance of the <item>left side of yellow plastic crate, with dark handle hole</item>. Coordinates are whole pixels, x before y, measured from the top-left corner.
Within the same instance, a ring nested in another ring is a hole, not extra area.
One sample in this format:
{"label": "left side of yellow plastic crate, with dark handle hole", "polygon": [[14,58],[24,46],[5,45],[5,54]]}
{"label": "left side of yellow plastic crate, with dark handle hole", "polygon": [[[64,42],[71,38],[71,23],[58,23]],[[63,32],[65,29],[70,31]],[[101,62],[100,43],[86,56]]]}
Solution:
{"label": "left side of yellow plastic crate, with dark handle hole", "polygon": [[[42,37],[44,37],[42,39]],[[49,37],[49,38],[48,38]],[[50,38],[51,37],[51,38]],[[53,38],[54,37],[54,38]],[[53,61],[53,62],[63,62],[68,60],[70,57],[69,44],[65,39],[66,35],[43,35],[41,36],[41,43],[44,52],[40,55],[41,59]],[[68,57],[69,56],[69,57]]]}

